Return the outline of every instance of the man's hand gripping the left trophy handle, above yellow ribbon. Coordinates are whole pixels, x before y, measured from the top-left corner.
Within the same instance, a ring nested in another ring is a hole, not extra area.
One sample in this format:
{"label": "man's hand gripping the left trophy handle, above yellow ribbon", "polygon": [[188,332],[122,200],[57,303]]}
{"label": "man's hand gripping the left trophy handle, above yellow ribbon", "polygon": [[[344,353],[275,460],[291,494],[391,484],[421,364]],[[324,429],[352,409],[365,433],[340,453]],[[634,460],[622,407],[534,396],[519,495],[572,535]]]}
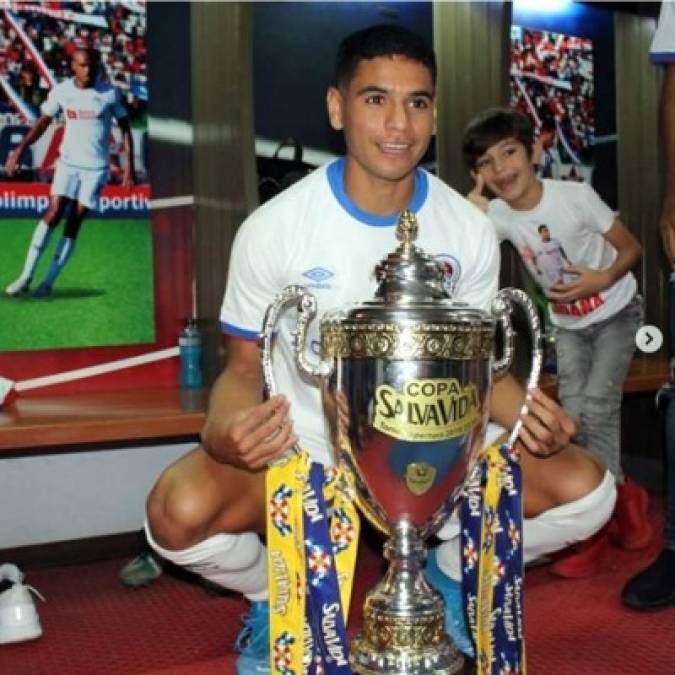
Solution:
{"label": "man's hand gripping the left trophy handle, above yellow ribbon", "polygon": [[209,430],[204,448],[218,461],[249,471],[262,469],[298,442],[289,408],[288,399],[277,394],[264,403],[239,410],[219,428]]}

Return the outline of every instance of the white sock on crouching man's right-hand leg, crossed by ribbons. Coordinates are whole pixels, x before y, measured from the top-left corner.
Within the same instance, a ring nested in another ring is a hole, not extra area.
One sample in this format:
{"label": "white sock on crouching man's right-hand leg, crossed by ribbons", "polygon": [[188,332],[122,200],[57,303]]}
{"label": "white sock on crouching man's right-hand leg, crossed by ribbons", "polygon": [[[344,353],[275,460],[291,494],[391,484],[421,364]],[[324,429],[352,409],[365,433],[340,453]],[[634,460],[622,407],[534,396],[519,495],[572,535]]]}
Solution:
{"label": "white sock on crouching man's right-hand leg, crossed by ribbons", "polygon": [[[523,559],[526,563],[593,536],[612,516],[616,502],[614,476],[606,471],[600,484],[580,499],[561,504],[534,518],[523,519]],[[457,511],[441,528],[436,561],[441,571],[462,578],[461,537]]]}

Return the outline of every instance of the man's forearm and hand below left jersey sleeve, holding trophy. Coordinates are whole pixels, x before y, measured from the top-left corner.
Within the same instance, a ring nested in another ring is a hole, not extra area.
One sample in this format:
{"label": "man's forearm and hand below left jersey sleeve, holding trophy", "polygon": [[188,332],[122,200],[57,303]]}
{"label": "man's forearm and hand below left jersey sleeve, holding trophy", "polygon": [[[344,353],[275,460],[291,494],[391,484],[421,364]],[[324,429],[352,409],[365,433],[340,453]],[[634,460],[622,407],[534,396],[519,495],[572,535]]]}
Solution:
{"label": "man's forearm and hand below left jersey sleeve, holding trophy", "polygon": [[292,448],[297,438],[289,402],[277,395],[262,402],[260,350],[255,342],[230,339],[228,364],[213,386],[202,445],[215,460],[255,471]]}

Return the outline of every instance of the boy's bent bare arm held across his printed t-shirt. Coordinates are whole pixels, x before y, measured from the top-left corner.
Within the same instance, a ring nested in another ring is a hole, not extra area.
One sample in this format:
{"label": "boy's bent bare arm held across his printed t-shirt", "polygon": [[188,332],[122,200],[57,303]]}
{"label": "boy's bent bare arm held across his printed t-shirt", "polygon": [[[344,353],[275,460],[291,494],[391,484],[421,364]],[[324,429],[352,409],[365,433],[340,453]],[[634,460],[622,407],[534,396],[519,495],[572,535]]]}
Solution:
{"label": "boy's bent bare arm held across his printed t-shirt", "polygon": [[554,284],[549,297],[558,302],[573,302],[604,291],[618,281],[640,260],[642,247],[631,231],[615,218],[603,237],[616,249],[614,262],[605,270],[594,270],[581,265],[568,265],[565,272],[577,274],[574,281]]}

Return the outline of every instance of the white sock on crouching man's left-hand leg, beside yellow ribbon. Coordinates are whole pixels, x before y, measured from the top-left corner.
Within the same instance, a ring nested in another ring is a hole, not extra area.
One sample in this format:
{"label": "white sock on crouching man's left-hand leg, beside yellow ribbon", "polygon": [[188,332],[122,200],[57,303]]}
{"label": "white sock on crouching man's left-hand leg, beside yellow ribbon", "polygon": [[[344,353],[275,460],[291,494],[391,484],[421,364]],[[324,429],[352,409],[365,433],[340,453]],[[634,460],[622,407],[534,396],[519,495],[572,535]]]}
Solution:
{"label": "white sock on crouching man's left-hand leg, beside yellow ribbon", "polygon": [[182,551],[162,548],[145,523],[148,543],[163,558],[249,600],[267,600],[267,552],[255,532],[216,534]]}

